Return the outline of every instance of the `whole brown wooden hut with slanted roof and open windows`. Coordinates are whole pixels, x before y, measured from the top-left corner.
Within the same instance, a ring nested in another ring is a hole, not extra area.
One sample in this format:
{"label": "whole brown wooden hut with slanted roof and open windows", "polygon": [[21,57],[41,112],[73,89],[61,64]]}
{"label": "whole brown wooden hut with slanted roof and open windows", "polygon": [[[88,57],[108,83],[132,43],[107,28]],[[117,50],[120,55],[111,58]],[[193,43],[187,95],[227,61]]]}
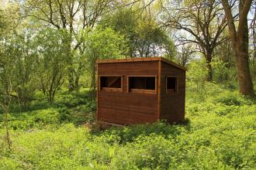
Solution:
{"label": "whole brown wooden hut with slanted roof and open windows", "polygon": [[185,68],[161,57],[98,61],[97,118],[105,124],[185,119]]}

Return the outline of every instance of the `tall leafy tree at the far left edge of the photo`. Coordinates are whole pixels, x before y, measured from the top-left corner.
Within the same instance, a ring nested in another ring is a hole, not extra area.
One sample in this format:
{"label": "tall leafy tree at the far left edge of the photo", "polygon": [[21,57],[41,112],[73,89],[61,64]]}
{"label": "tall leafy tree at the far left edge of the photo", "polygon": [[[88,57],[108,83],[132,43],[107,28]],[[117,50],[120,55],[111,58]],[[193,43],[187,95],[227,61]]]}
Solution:
{"label": "tall leafy tree at the far left edge of the photo", "polygon": [[10,8],[5,8],[5,13],[8,15],[1,17],[4,26],[0,37],[0,86],[3,90],[8,89],[6,82],[11,80],[11,97],[26,107],[33,100],[36,87],[33,34],[28,28],[21,29],[19,6],[12,4]]}

